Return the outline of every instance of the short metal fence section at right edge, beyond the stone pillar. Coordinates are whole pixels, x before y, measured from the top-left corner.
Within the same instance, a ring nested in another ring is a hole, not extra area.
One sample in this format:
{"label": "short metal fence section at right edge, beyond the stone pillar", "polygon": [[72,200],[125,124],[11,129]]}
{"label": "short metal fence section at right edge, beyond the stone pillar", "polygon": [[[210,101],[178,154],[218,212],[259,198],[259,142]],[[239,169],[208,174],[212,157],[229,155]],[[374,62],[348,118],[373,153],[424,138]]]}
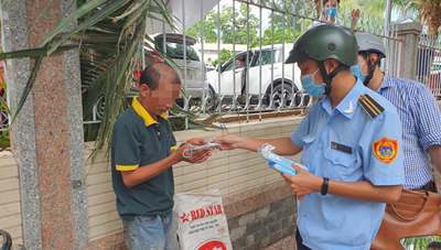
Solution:
{"label": "short metal fence section at right edge, beyond the stone pillar", "polygon": [[429,87],[435,97],[441,96],[441,41],[437,35],[424,32],[419,35],[416,79]]}

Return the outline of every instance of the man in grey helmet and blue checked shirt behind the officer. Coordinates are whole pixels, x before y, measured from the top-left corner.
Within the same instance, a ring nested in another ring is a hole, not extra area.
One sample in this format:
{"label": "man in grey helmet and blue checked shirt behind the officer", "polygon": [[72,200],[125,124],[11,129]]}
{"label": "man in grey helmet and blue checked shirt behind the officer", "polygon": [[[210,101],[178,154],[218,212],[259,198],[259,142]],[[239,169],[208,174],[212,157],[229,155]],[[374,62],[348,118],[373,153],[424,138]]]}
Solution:
{"label": "man in grey helmet and blue checked shirt behind the officer", "polygon": [[356,33],[358,64],[351,67],[365,86],[388,99],[395,107],[402,126],[406,189],[435,192],[433,166],[441,172],[441,113],[432,91],[423,84],[392,77],[381,72],[379,62],[386,57],[378,36]]}

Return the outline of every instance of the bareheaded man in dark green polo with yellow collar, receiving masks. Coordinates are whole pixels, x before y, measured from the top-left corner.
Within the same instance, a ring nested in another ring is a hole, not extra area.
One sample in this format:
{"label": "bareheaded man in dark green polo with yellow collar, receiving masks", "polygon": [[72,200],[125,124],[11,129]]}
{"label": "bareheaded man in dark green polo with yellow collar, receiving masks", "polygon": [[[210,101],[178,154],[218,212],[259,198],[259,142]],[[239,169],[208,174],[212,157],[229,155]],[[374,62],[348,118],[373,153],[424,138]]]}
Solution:
{"label": "bareheaded man in dark green polo with yellow collar, receiving masks", "polygon": [[[165,112],[179,96],[178,74],[162,63],[142,72],[140,94],[115,122],[111,135],[111,178],[117,209],[129,249],[179,249],[173,229],[174,182],[172,165],[200,163],[209,155],[206,144],[192,139],[176,149]],[[192,155],[190,157],[190,155]]]}

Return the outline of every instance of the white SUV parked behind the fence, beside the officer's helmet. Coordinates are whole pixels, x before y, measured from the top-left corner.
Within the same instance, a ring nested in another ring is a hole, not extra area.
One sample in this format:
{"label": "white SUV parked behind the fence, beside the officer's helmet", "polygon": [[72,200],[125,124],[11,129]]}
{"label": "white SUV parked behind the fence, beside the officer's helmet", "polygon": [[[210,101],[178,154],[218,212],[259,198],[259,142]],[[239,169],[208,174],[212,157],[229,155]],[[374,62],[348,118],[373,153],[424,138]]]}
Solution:
{"label": "white SUV parked behind the fence, beside the officer's helmet", "polygon": [[[227,100],[230,100],[235,95],[245,96],[249,94],[251,95],[251,105],[257,105],[259,94],[265,94],[262,98],[263,105],[269,105],[270,96],[273,96],[273,105],[279,107],[282,96],[284,96],[284,105],[289,106],[292,90],[293,93],[299,93],[303,89],[300,81],[300,69],[297,64],[283,64],[283,59],[288,58],[291,47],[292,45],[284,45],[283,51],[282,44],[276,44],[273,50],[271,50],[271,45],[262,46],[261,51],[260,47],[251,48],[248,53],[249,74],[247,74],[246,67],[239,67],[237,64],[238,59],[246,62],[247,52],[239,53],[220,67],[217,67],[216,70],[207,73],[209,86],[213,87],[216,95],[225,95],[224,99]],[[218,83],[219,72],[220,84]],[[247,76],[249,76],[248,90],[246,88]],[[234,85],[234,78],[236,79],[236,85]],[[259,86],[260,81],[261,85]],[[238,98],[238,100],[240,99],[241,101],[245,100],[245,98]],[[300,104],[300,95],[295,98],[295,105],[298,104]]]}

